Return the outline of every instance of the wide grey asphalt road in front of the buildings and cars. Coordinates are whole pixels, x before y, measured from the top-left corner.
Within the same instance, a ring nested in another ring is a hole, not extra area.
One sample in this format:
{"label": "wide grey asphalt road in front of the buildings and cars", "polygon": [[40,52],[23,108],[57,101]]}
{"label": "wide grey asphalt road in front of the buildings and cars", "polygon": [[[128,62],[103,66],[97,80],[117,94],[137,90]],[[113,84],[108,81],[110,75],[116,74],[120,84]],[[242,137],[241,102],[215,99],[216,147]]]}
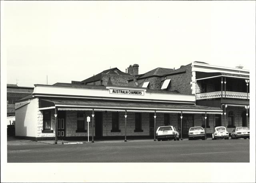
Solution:
{"label": "wide grey asphalt road in front of the buildings and cars", "polygon": [[12,145],[7,146],[7,162],[250,162],[249,142],[207,139]]}

